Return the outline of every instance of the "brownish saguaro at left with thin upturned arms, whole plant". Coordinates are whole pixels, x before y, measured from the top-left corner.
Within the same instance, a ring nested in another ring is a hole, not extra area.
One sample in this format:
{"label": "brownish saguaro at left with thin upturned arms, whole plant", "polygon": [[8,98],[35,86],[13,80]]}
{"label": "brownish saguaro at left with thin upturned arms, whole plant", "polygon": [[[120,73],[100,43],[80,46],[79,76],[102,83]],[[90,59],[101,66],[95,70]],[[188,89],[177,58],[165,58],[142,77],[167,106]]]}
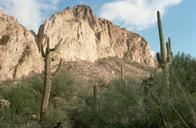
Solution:
{"label": "brownish saguaro at left with thin upturned arms, whole plant", "polygon": [[[44,92],[43,92],[42,104],[41,104],[40,121],[42,121],[46,116],[46,112],[49,104],[49,98],[50,98],[51,81],[52,81],[50,54],[52,51],[55,51],[59,47],[61,41],[55,46],[55,48],[50,49],[50,41],[49,38],[46,37],[47,47],[45,53],[44,50],[42,49],[42,56],[45,59],[44,60],[45,68],[44,68]],[[59,66],[61,65],[61,63],[62,60],[60,60]],[[57,70],[59,69],[59,66]]]}

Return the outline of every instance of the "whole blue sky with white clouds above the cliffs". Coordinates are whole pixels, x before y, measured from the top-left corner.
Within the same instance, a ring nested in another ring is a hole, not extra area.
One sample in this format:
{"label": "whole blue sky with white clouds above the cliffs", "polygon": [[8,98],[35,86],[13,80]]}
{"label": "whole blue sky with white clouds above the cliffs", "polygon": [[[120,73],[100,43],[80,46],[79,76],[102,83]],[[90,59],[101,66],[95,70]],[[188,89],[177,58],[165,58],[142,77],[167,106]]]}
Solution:
{"label": "whole blue sky with white clouds above the cliffs", "polygon": [[0,10],[37,32],[51,15],[77,4],[89,5],[97,17],[141,34],[153,53],[159,51],[156,23],[159,10],[165,41],[171,37],[174,53],[196,57],[196,0],[0,0]]}

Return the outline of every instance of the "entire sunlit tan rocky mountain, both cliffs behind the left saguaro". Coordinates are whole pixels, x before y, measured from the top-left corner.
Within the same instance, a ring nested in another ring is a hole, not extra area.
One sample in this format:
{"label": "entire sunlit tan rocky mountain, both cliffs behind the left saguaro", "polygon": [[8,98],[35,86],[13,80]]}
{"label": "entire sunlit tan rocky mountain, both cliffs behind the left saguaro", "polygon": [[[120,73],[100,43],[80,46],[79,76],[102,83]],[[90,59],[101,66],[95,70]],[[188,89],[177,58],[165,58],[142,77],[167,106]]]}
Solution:
{"label": "entire sunlit tan rocky mountain, both cliffs behind the left saguaro", "polygon": [[110,57],[155,65],[149,45],[142,36],[96,18],[88,6],[66,8],[51,16],[40,26],[37,35],[14,17],[0,12],[0,81],[42,72],[41,51],[46,47],[46,37],[51,48],[60,43],[52,53],[53,65],[60,59],[95,63]]}

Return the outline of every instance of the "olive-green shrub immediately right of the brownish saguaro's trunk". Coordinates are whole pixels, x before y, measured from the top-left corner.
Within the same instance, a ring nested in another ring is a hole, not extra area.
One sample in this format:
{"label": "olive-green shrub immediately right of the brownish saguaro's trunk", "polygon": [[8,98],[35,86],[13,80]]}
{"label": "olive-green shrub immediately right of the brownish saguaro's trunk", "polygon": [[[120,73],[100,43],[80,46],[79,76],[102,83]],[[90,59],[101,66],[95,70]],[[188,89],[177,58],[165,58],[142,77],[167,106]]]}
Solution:
{"label": "olive-green shrub immediately right of the brownish saguaro's trunk", "polygon": [[52,80],[51,101],[61,100],[64,107],[76,105],[87,90],[85,81],[74,79],[67,72],[58,72]]}

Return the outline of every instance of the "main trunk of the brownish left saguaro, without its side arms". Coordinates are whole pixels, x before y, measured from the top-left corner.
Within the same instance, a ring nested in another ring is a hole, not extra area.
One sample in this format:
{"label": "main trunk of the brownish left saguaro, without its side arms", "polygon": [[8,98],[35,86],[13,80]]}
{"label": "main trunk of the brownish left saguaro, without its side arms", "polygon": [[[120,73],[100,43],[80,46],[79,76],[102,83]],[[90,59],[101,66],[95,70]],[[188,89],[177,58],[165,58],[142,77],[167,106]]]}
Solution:
{"label": "main trunk of the brownish left saguaro, without its side arms", "polygon": [[51,90],[51,58],[50,58],[50,48],[49,41],[47,41],[47,48],[45,54],[45,69],[44,69],[44,94],[42,98],[40,121],[46,117],[46,112],[48,109],[50,90]]}

